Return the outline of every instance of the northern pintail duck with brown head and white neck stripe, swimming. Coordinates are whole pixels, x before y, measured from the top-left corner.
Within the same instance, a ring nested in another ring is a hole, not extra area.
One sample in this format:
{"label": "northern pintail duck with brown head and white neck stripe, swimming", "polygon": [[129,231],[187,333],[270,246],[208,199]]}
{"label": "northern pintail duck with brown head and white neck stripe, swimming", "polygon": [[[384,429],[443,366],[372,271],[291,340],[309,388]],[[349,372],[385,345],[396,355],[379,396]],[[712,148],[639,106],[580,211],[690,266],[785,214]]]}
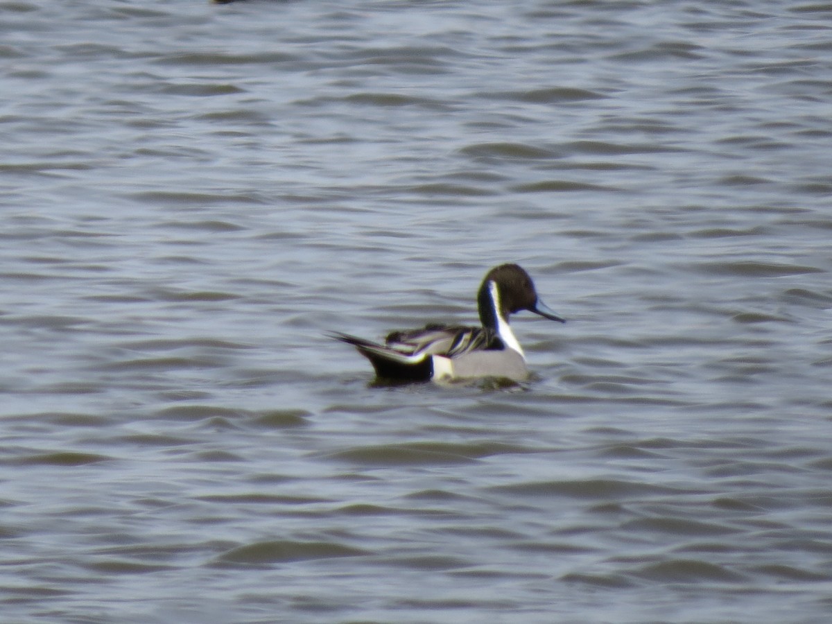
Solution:
{"label": "northern pintail duck with brown head and white neck stripe, swimming", "polygon": [[477,308],[482,327],[428,324],[391,332],[384,344],[339,332],[330,335],[352,344],[383,379],[522,381],[528,377],[526,357],[508,324],[509,314],[529,310],[566,322],[537,297],[532,278],[518,265],[499,265],[488,271],[479,287]]}

